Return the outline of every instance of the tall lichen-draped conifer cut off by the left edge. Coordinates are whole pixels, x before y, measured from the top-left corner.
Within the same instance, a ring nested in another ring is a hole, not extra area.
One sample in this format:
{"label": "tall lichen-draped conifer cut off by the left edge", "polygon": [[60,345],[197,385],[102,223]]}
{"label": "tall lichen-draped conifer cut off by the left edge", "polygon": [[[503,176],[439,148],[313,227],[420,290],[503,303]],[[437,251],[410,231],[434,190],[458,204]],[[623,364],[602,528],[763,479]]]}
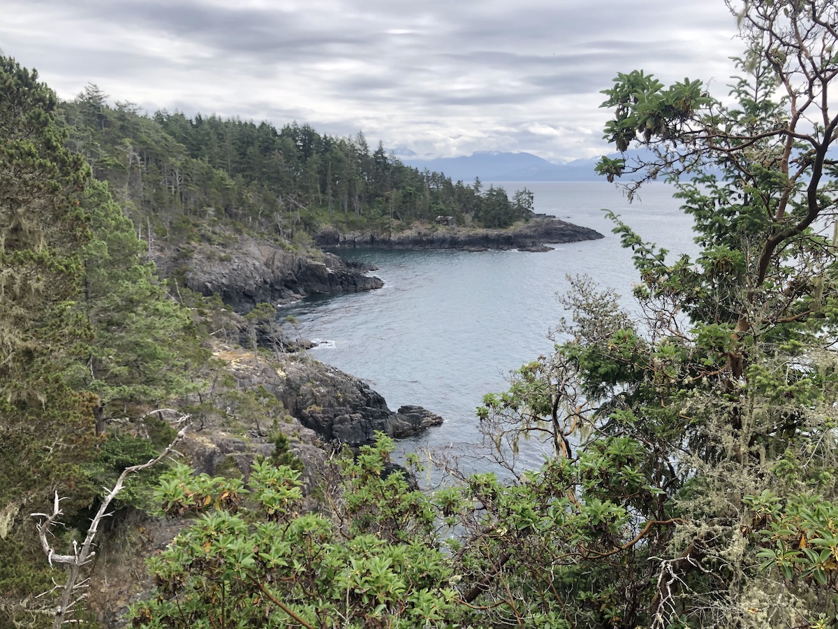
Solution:
{"label": "tall lichen-draped conifer cut off by the left edge", "polygon": [[33,540],[20,526],[23,505],[70,487],[76,508],[91,497],[80,465],[91,459],[93,400],[67,378],[90,338],[75,309],[90,169],[64,147],[57,104],[37,73],[0,57],[0,624],[8,626],[26,595],[50,587],[44,570],[26,563]]}

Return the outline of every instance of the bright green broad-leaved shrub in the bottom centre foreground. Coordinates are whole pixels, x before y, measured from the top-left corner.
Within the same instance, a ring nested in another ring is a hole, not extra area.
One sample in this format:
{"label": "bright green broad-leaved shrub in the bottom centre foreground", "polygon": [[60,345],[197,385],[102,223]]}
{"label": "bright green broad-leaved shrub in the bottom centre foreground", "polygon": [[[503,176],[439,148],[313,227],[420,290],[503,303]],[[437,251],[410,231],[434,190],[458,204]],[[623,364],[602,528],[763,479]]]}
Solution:
{"label": "bright green broad-leaved shrub in the bottom centre foreground", "polygon": [[[401,474],[380,476],[392,445],[382,438],[357,461],[341,460],[349,499],[335,505],[339,522],[299,512],[300,472],[287,465],[257,462],[247,488],[173,469],[157,492],[163,512],[195,522],[150,562],[157,595],[134,606],[133,625],[444,626],[453,574],[427,543],[427,496]],[[375,523],[365,512],[372,502]],[[416,512],[397,513],[406,505]],[[387,531],[391,518],[397,528]],[[417,529],[400,528],[408,522]]]}

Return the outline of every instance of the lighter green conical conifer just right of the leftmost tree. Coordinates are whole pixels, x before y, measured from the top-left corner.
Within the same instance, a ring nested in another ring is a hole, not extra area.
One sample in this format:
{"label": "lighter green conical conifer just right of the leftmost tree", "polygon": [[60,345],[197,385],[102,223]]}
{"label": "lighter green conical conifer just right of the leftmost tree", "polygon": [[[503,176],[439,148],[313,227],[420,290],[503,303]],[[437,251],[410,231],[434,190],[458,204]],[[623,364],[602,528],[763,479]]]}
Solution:
{"label": "lighter green conical conifer just right of the leftmost tree", "polygon": [[[192,391],[189,362],[201,356],[188,312],[168,297],[142,262],[143,243],[107,185],[92,181],[82,201],[91,230],[83,250],[90,355],[78,363],[75,387],[96,394],[96,431],[124,416],[127,403],[158,406]],[[206,358],[206,356],[204,356]]]}

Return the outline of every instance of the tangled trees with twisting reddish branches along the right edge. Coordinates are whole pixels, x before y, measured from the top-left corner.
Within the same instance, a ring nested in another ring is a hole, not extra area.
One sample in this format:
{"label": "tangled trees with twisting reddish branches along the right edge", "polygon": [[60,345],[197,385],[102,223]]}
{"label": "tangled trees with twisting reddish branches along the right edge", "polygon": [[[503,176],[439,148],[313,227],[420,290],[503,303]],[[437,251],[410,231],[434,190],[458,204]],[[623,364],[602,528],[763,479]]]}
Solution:
{"label": "tangled trees with twisting reddish branches along the right edge", "polygon": [[[673,262],[614,217],[639,316],[579,282],[556,356],[484,411],[513,440],[546,429],[574,468],[621,453],[603,494],[625,513],[606,551],[613,626],[835,622],[838,10],[728,6],[747,44],[731,105],[640,71],[604,91],[606,138],[648,157],[600,172],[634,174],[630,195],[690,175],[678,196],[701,253]],[[593,592],[608,591],[591,581],[602,567],[581,577]]]}

